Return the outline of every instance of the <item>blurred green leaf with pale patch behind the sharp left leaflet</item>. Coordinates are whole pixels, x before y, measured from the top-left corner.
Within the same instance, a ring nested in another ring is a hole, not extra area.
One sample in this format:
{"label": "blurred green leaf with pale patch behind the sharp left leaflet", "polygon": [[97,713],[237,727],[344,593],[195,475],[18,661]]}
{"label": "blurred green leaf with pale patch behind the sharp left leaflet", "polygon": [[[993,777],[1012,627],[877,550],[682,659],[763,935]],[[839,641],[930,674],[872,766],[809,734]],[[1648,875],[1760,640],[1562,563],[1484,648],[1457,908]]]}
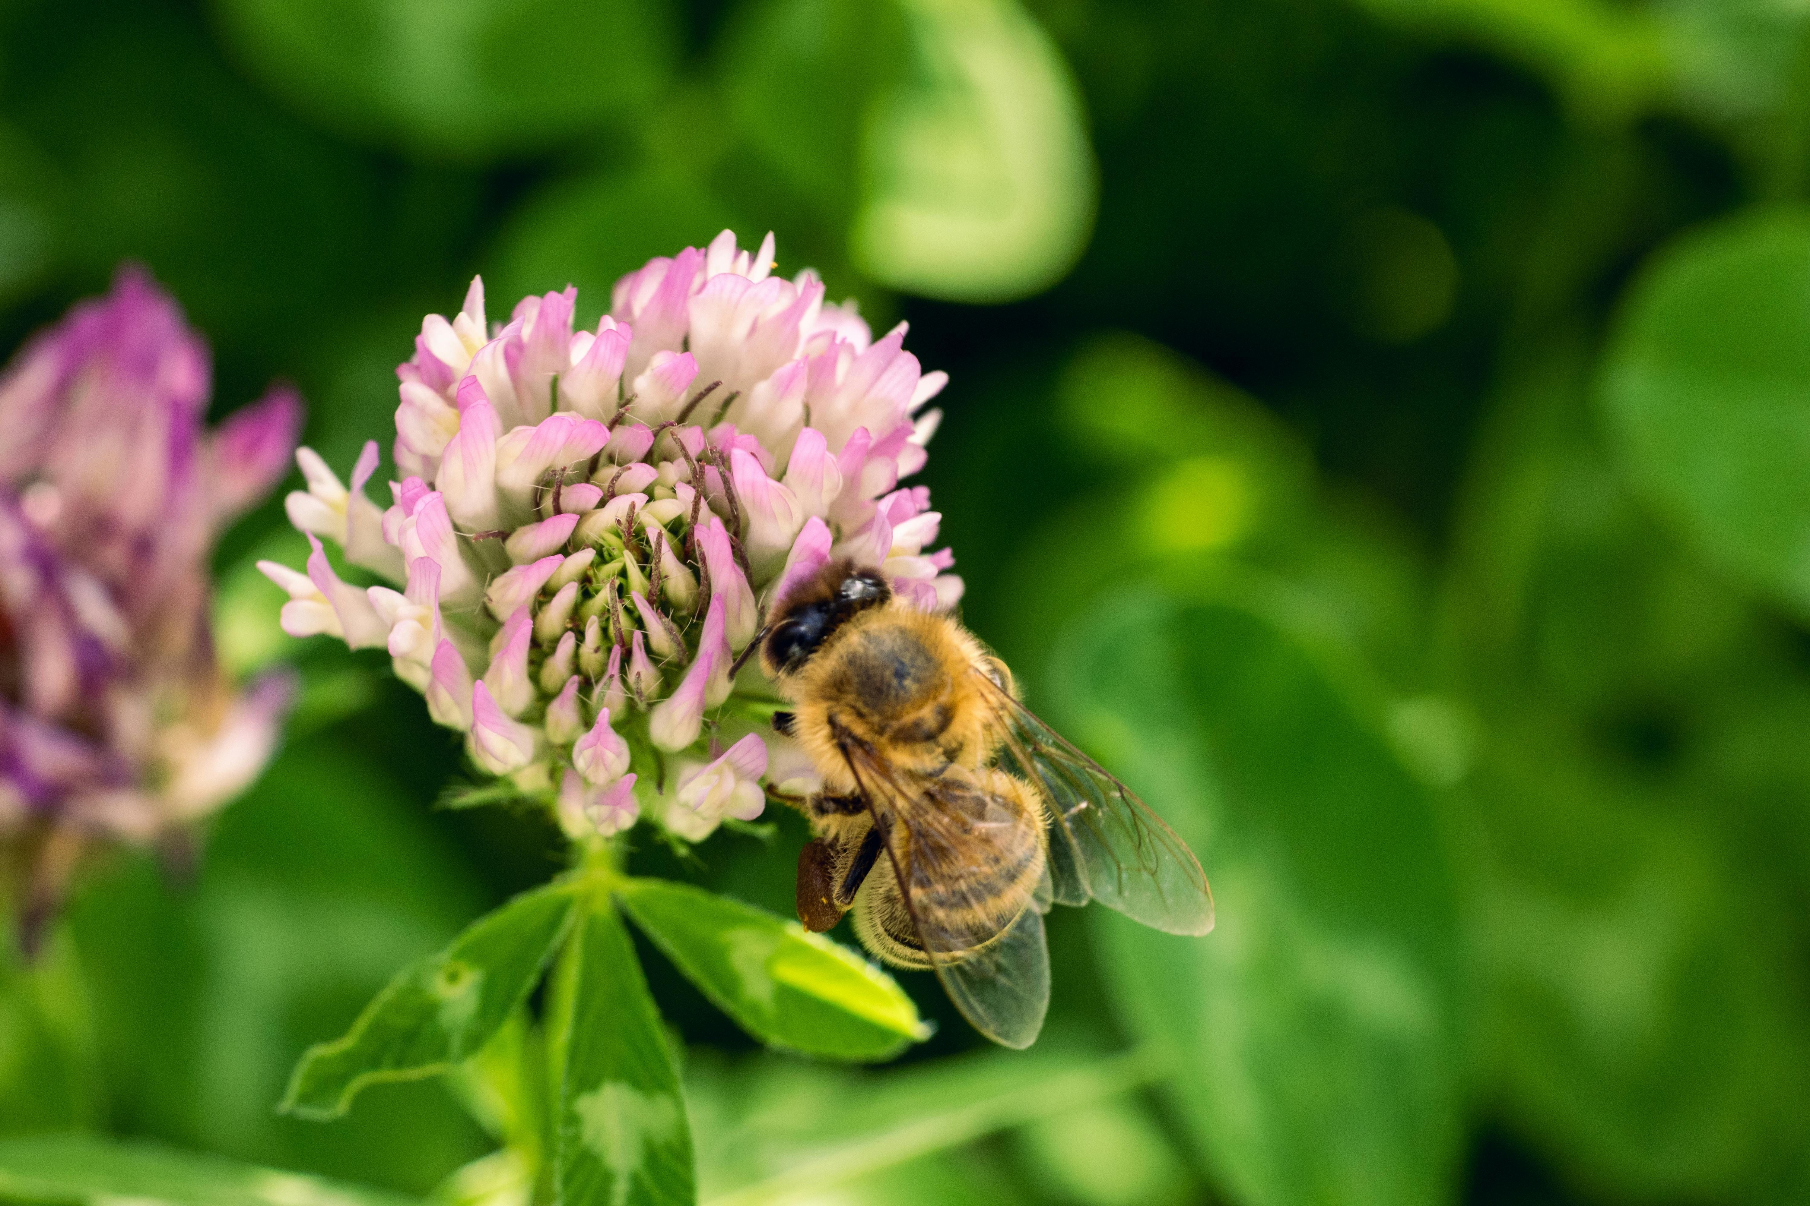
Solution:
{"label": "blurred green leaf with pale patch behind the sharp left leaflet", "polygon": [[94,875],[71,920],[114,1125],[411,1193],[481,1155],[438,1083],[367,1094],[333,1126],[275,1110],[311,1041],[483,909],[424,796],[319,734],[212,823],[192,882],[125,855]]}

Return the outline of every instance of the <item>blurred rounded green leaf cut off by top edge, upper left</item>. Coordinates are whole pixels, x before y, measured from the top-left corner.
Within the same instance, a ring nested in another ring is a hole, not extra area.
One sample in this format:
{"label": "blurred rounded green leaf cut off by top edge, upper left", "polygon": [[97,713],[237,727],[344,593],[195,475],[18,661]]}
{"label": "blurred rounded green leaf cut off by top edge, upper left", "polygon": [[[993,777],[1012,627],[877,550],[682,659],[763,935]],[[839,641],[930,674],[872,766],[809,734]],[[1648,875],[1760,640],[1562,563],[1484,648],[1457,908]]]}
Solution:
{"label": "blurred rounded green leaf cut off by top edge, upper left", "polygon": [[217,0],[277,90],[346,130],[454,157],[521,155],[623,119],[664,87],[672,14],[650,0]]}

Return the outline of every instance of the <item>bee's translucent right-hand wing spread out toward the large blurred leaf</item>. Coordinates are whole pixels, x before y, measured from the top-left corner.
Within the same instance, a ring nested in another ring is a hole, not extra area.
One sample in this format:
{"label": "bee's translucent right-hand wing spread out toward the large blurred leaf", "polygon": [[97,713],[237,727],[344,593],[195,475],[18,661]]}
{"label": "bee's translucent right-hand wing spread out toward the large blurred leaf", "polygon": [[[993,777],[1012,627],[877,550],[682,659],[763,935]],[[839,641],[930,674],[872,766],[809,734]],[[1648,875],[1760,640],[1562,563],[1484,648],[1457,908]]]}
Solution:
{"label": "bee's translucent right-hand wing spread out toward the large blurred leaf", "polygon": [[999,683],[974,676],[999,716],[999,767],[1043,796],[1055,900],[1093,899],[1166,933],[1213,929],[1213,890],[1175,830]]}

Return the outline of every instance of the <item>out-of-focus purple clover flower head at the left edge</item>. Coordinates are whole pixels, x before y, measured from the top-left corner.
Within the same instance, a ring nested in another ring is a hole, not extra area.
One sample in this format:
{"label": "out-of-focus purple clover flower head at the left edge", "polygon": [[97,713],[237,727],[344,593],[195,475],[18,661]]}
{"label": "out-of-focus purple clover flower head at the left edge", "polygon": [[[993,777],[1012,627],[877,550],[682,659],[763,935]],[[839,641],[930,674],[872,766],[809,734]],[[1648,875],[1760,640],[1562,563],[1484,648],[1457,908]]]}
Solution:
{"label": "out-of-focus purple clover flower head at the left edge", "polygon": [[[275,749],[288,678],[239,691],[215,664],[208,555],[284,474],[300,400],[277,387],[208,430],[210,378],[206,345],[132,268],[0,376],[0,841],[33,864],[27,922],[80,846],[195,821]],[[333,510],[317,503],[308,524]],[[344,499],[338,515],[357,542]],[[308,575],[290,586],[315,602]]]}

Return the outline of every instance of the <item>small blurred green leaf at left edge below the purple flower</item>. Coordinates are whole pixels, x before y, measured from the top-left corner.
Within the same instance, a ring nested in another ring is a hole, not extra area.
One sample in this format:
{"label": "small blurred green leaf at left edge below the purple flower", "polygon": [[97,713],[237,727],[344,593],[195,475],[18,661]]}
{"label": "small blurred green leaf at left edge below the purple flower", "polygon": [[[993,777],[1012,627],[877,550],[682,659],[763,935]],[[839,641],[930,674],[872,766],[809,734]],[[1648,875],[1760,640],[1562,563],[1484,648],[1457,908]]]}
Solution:
{"label": "small blurred green leaf at left edge below the purple flower", "polygon": [[100,1060],[87,984],[67,928],[29,960],[0,895],[0,1132],[92,1125]]}

